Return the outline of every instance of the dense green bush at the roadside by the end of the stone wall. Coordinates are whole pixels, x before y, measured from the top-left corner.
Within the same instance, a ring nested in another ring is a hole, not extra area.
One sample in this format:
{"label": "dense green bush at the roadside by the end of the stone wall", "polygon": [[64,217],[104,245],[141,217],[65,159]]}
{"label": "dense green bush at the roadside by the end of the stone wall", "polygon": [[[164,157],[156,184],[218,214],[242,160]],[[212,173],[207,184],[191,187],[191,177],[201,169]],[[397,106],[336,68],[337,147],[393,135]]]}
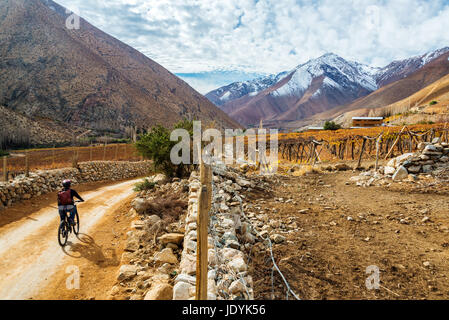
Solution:
{"label": "dense green bush at the roadside by the end of the stone wall", "polygon": [[[193,122],[183,120],[175,124],[174,129],[186,129],[193,137]],[[190,165],[175,165],[171,162],[170,153],[178,143],[170,141],[171,131],[161,125],[153,127],[148,133],[142,135],[136,142],[137,151],[147,159],[153,160],[154,171],[162,172],[168,177],[177,176],[183,178],[191,171]],[[191,145],[193,143],[191,142]],[[191,152],[192,152],[192,148]]]}

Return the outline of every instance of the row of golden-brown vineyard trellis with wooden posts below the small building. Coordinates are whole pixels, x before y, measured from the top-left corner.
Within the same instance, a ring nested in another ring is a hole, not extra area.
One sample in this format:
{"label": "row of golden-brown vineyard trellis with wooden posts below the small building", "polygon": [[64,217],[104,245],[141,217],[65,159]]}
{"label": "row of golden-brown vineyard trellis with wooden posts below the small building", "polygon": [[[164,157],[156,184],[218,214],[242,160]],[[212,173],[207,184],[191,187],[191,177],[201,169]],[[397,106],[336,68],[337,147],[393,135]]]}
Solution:
{"label": "row of golden-brown vineyard trellis with wooden posts below the small building", "polygon": [[421,142],[432,142],[436,137],[443,142],[449,141],[449,129],[446,125],[432,128],[398,128],[384,127],[376,135],[354,134],[346,131],[346,136],[325,139],[321,133],[315,136],[281,136],[279,139],[279,156],[284,161],[315,165],[323,161],[357,161],[360,167],[363,160],[389,159],[406,152],[415,152]]}

